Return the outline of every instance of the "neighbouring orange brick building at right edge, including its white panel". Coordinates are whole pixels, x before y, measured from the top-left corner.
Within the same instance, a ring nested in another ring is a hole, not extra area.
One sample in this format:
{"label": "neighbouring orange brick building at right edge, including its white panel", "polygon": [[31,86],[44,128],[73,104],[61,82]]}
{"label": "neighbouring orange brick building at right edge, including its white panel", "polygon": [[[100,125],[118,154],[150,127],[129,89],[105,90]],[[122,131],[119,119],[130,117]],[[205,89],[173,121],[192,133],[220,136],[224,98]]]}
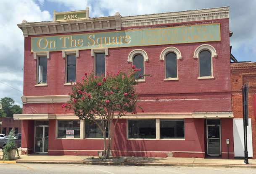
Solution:
{"label": "neighbouring orange brick building at right edge, including its white panel", "polygon": [[[231,89],[232,89],[232,110],[234,120],[240,121],[240,132],[243,133],[243,98],[242,86],[248,83],[248,154],[249,157],[256,156],[256,62],[237,62],[231,64]],[[239,124],[239,123],[238,123]],[[235,126],[235,124],[234,124]],[[238,125],[239,126],[239,125]],[[238,138],[239,137],[239,138]],[[235,155],[243,156],[243,136],[239,136],[234,131],[234,138],[238,139],[235,143]],[[239,143],[242,142],[242,143]],[[240,146],[242,144],[242,146]],[[236,150],[237,149],[237,150]]]}

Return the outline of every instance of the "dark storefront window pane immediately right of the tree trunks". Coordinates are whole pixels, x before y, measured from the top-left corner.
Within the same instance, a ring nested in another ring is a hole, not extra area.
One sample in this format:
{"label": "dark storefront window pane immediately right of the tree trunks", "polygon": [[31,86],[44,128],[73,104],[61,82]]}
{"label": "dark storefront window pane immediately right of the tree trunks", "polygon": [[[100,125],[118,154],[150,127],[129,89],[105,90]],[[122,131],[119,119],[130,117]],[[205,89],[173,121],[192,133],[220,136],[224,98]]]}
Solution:
{"label": "dark storefront window pane immediately right of the tree trunks", "polygon": [[128,120],[128,138],[156,138],[156,120]]}

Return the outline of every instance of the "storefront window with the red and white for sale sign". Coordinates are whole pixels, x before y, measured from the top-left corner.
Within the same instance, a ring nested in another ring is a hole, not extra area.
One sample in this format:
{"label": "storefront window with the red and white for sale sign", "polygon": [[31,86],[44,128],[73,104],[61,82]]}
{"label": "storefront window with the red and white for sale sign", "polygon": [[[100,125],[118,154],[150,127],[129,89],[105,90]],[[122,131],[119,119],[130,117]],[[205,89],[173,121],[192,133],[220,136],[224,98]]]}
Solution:
{"label": "storefront window with the red and white for sale sign", "polygon": [[58,138],[80,138],[80,120],[58,120]]}

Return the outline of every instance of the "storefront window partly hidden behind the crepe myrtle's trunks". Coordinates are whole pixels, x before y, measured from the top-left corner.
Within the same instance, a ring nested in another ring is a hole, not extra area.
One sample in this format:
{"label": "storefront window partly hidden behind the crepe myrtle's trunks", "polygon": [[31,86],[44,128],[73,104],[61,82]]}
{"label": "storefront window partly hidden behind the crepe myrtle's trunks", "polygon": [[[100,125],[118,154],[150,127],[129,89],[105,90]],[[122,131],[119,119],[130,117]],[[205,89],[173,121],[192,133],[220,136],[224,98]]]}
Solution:
{"label": "storefront window partly hidden behind the crepe myrtle's trunks", "polygon": [[[100,120],[98,120],[98,123]],[[85,137],[86,138],[103,138],[103,133],[94,122],[86,122],[85,125]],[[106,129],[106,137],[108,137],[108,127]]]}

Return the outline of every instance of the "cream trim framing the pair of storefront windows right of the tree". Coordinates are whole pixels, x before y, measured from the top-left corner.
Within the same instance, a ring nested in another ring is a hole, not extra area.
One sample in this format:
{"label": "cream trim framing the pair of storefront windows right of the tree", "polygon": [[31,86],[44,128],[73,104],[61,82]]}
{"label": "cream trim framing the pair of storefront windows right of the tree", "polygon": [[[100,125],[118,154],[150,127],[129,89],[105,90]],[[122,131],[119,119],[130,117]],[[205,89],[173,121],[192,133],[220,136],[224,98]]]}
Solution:
{"label": "cream trim framing the pair of storefront windows right of the tree", "polygon": [[[170,119],[160,119],[160,118],[156,118],[156,138],[129,138],[129,125],[128,125],[128,121],[129,120],[135,120],[135,119],[127,119],[126,120],[126,139],[127,140],[177,140],[177,141],[185,141],[185,119],[184,119],[184,138],[160,138],[161,134],[160,134],[160,120],[170,120]],[[136,119],[136,120],[155,120],[155,119]],[[177,119],[173,119],[173,120],[177,120]]]}

